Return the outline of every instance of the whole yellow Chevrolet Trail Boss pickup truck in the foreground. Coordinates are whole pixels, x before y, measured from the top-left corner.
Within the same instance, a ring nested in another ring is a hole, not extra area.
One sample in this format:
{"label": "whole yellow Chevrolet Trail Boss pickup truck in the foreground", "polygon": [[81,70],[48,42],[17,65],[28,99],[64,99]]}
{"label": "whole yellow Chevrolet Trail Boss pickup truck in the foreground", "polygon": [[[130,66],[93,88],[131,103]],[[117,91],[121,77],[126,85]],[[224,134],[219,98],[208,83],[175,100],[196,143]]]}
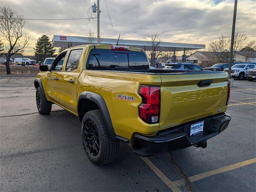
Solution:
{"label": "whole yellow Chevrolet Trail Boss pickup truck in the foreground", "polygon": [[40,114],[52,104],[82,121],[82,143],[96,165],[112,162],[119,141],[141,156],[190,147],[228,127],[226,72],[150,69],[142,49],[83,45],[62,51],[34,80]]}

